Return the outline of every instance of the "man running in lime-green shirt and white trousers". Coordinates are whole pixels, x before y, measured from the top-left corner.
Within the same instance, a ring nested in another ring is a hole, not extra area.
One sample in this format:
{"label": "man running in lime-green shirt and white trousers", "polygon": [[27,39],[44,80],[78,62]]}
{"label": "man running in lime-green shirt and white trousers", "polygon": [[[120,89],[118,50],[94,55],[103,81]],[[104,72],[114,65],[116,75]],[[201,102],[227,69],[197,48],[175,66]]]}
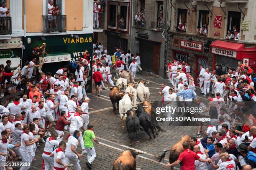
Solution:
{"label": "man running in lime-green shirt and white trousers", "polygon": [[84,131],[84,135],[83,135],[84,147],[85,147],[85,150],[87,151],[88,162],[86,163],[86,165],[89,169],[92,169],[92,161],[94,161],[94,159],[96,158],[96,152],[93,145],[93,141],[99,144],[99,142],[95,138],[95,134],[92,128],[93,128],[93,124],[89,123],[87,125],[87,130]]}

